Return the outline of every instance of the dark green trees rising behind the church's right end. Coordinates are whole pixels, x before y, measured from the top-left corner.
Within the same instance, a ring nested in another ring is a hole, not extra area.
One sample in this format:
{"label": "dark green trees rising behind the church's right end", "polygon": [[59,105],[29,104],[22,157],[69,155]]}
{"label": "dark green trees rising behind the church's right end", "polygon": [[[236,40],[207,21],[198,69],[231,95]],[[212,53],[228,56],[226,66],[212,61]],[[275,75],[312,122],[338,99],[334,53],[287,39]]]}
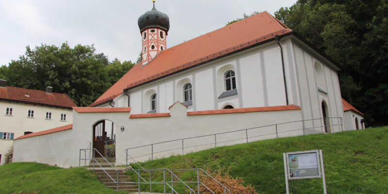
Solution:
{"label": "dark green trees rising behind the church's right end", "polygon": [[342,97],[367,124],[388,124],[387,0],[298,0],[275,16],[341,65]]}

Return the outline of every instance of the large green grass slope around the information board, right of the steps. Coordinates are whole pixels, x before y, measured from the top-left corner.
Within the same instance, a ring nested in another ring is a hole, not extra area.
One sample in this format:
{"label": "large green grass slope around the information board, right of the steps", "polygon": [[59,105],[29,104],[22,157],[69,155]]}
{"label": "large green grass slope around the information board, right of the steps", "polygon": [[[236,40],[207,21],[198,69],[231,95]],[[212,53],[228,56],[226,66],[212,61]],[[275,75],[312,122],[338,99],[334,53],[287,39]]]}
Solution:
{"label": "large green grass slope around the information board, right of the steps", "polygon": [[[284,194],[283,152],[312,149],[323,150],[328,194],[388,193],[388,127],[217,147],[141,165],[212,170],[231,167],[233,177],[242,177],[258,193]],[[180,176],[195,177],[193,173]],[[322,194],[322,179],[290,180],[290,190],[293,194]]]}

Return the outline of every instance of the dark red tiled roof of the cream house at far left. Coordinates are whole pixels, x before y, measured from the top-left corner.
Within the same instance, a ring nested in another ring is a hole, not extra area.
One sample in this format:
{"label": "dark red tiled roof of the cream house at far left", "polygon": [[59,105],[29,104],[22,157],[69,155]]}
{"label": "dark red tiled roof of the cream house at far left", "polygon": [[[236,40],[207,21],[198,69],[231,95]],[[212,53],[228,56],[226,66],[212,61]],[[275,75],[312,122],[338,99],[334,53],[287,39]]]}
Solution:
{"label": "dark red tiled roof of the cream house at far left", "polygon": [[77,104],[66,94],[51,93],[46,91],[17,88],[12,86],[0,87],[0,100],[20,101],[26,103],[37,103],[47,106],[71,108]]}

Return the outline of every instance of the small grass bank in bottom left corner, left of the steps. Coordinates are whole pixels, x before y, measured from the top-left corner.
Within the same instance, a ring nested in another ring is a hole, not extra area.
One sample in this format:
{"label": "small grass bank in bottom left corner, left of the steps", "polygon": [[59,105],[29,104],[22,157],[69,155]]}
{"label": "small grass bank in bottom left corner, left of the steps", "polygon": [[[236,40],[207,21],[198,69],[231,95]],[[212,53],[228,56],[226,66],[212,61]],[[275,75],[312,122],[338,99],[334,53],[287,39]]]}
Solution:
{"label": "small grass bank in bottom left corner, left of the steps", "polygon": [[0,166],[0,194],[128,194],[106,188],[85,168],[63,169],[33,162]]}

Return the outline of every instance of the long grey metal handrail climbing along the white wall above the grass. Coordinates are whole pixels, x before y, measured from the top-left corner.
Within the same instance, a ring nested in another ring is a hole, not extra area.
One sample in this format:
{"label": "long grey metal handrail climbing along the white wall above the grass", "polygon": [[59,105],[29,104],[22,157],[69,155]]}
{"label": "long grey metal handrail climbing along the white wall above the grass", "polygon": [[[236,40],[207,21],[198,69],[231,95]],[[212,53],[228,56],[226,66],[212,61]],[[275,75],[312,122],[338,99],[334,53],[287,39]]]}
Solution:
{"label": "long grey metal handrail climbing along the white wall above the grass", "polygon": [[[312,127],[312,128],[292,129],[292,130],[286,130],[286,131],[278,131],[277,130],[277,126],[279,126],[279,125],[290,124],[290,123],[297,123],[297,122],[313,121],[313,120],[322,120],[322,119],[339,119],[340,124],[323,125],[323,126]],[[188,138],[182,138],[182,139],[175,139],[175,140],[170,140],[170,141],[158,142],[158,143],[155,143],[155,144],[148,144],[148,145],[144,145],[144,146],[136,146],[136,147],[127,148],[127,149],[125,149],[125,151],[128,153],[128,150],[130,150],[130,149],[146,147],[146,146],[151,146],[151,149],[153,150],[153,146],[154,145],[163,144],[163,143],[169,143],[169,142],[182,141],[182,147],[168,149],[168,150],[162,150],[162,151],[158,151],[158,152],[153,152],[152,151],[151,154],[145,154],[145,155],[141,155],[141,156],[137,156],[137,157],[132,157],[133,159],[135,159],[135,158],[151,155],[152,156],[151,160],[153,160],[153,154],[156,154],[156,153],[161,153],[161,152],[165,152],[165,151],[172,151],[172,150],[177,150],[177,149],[182,149],[183,150],[184,148],[195,147],[195,146],[186,146],[186,147],[183,146],[183,141],[187,140],[187,139],[194,139],[194,138],[200,138],[200,137],[209,137],[209,136],[215,136],[216,137],[217,135],[226,134],[226,133],[232,133],[232,132],[239,132],[239,131],[244,131],[244,130],[247,133],[248,130],[251,130],[251,129],[259,129],[259,128],[265,128],[265,127],[271,127],[271,126],[275,126],[276,127],[275,128],[276,132],[266,133],[266,134],[262,134],[262,135],[252,136],[252,137],[248,137],[248,135],[246,134],[245,138],[228,140],[228,141],[224,141],[224,142],[237,141],[237,140],[242,140],[242,139],[246,139],[246,142],[248,142],[248,139],[250,139],[250,138],[259,137],[259,136],[265,136],[265,135],[272,135],[272,134],[276,134],[276,138],[278,138],[278,134],[279,133],[291,132],[291,131],[296,131],[296,130],[306,130],[306,129],[322,128],[322,127],[329,127],[329,126],[332,126],[332,127],[334,127],[334,126],[341,126],[341,130],[343,131],[342,117],[327,117],[327,118],[305,119],[305,120],[290,121],[290,122],[277,123],[277,124],[272,124],[272,125],[259,126],[259,127],[254,127],[254,128],[248,128],[248,129],[232,130],[232,131],[226,131],[226,132],[221,132],[221,133],[214,133],[214,134],[209,134],[209,135],[200,135],[200,136],[195,136],[195,137],[188,137]],[[217,141],[215,141],[214,143],[203,144],[203,145],[196,145],[196,146],[206,146],[206,145],[212,145],[212,144],[217,146],[217,143],[224,143],[224,142],[217,142]]]}

